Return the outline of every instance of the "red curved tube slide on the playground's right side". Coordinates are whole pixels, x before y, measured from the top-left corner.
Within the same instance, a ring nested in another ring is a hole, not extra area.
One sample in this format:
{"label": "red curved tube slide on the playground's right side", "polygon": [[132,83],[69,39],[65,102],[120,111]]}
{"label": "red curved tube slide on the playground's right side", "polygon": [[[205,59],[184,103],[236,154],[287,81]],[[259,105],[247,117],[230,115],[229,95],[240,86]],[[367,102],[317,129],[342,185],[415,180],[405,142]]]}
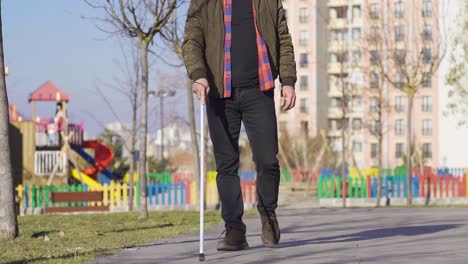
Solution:
{"label": "red curved tube slide on the playground's right side", "polygon": [[97,140],[84,141],[82,147],[94,149],[94,166],[84,169],[83,172],[96,179],[97,175],[111,164],[114,152],[106,144]]}

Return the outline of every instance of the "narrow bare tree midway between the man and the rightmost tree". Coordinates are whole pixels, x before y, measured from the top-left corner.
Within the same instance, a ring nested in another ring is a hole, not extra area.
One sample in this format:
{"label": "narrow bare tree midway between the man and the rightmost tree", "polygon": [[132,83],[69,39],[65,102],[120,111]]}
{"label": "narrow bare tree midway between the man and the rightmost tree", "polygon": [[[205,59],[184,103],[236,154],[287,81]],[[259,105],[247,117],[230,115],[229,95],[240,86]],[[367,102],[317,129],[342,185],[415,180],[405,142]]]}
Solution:
{"label": "narrow bare tree midway between the man and the rightmost tree", "polygon": [[[362,66],[360,64],[361,50],[355,43],[352,36],[352,25],[354,17],[350,6],[340,6],[332,8],[330,13],[344,17],[344,25],[337,26],[336,19],[329,17],[327,20],[330,30],[329,43],[329,79],[331,108],[330,114],[333,117],[334,131],[339,130],[338,137],[333,136],[335,149],[337,142],[340,143],[341,151],[341,184],[343,207],[346,207],[346,171],[354,163],[354,152],[352,149],[353,129],[352,122],[356,119],[354,114],[354,103],[362,101]],[[338,22],[340,23],[340,22]]]}

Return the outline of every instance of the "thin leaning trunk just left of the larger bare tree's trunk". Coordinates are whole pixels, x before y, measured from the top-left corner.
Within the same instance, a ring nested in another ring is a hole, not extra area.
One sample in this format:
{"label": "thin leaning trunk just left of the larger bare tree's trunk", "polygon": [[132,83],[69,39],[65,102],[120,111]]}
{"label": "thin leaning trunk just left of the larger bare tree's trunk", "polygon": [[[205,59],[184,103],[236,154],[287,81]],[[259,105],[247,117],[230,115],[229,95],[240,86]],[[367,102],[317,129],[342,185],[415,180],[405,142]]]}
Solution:
{"label": "thin leaning trunk just left of the larger bare tree's trunk", "polygon": [[135,174],[135,145],[136,145],[136,118],[137,118],[137,109],[138,109],[138,78],[140,76],[136,76],[135,78],[135,87],[133,88],[134,90],[132,91],[132,135],[131,135],[131,141],[130,141],[130,179],[129,179],[129,185],[130,189],[128,192],[128,209],[130,211],[133,211],[133,188],[135,186],[134,182],[134,174]]}

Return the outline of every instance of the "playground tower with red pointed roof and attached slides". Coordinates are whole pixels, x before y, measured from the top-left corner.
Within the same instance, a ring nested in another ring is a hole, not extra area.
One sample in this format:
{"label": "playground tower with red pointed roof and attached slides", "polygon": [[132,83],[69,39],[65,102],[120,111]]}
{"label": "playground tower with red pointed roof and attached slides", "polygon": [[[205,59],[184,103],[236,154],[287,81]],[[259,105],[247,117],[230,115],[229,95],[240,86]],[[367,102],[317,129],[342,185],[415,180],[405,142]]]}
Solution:
{"label": "playground tower with red pointed roof and attached slides", "polygon": [[[13,142],[13,148],[21,149],[22,181],[29,184],[68,184],[79,182],[98,186],[98,175],[119,180],[107,170],[114,157],[111,148],[96,140],[84,140],[82,123],[68,122],[67,106],[70,96],[53,82],[46,81],[28,98],[31,117],[26,118],[14,105],[10,105],[10,123],[21,132],[21,142]],[[57,102],[62,117],[37,116],[38,102]],[[20,144],[19,144],[20,143]],[[94,157],[86,150],[92,150]],[[77,157],[90,166],[79,168]],[[58,176],[58,177],[55,177]]]}

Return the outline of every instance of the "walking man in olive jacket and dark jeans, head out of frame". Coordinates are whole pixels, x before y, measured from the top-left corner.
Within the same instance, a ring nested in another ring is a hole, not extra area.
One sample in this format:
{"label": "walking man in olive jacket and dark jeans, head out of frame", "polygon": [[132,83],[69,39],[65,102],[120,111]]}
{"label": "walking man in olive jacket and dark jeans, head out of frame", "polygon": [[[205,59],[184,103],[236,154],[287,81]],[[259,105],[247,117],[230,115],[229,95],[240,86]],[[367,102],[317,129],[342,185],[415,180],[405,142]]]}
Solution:
{"label": "walking man in olive jacket and dark jeans, head out of frame", "polygon": [[248,248],[238,175],[241,122],[257,169],[262,241],[274,246],[280,239],[275,214],[280,169],[274,81],[279,75],[281,106],[289,110],[295,105],[297,79],[281,0],[192,0],[183,54],[192,90],[207,106],[226,228],[217,249]]}

